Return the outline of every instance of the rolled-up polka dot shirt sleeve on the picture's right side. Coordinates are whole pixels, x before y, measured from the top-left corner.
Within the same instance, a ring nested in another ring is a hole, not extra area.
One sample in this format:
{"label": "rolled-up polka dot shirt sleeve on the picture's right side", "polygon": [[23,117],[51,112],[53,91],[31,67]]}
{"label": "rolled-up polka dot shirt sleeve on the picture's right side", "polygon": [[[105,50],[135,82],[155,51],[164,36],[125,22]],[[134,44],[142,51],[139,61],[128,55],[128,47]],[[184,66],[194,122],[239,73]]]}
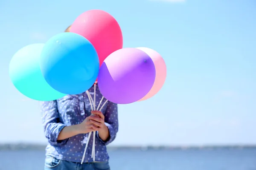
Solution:
{"label": "rolled-up polka dot shirt sleeve on the picture's right side", "polygon": [[110,144],[116,138],[116,133],[118,132],[118,111],[117,104],[108,101],[107,109],[105,112],[105,125],[109,130],[109,138],[103,141],[99,137],[98,131],[96,132],[97,138],[105,145]]}

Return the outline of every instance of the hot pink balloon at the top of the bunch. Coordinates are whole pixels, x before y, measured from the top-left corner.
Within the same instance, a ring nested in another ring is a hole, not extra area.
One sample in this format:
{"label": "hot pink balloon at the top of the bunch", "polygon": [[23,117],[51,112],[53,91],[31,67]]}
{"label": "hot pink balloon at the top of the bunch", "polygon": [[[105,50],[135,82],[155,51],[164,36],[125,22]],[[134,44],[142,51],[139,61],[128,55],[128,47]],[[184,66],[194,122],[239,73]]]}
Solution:
{"label": "hot pink balloon at the top of the bunch", "polygon": [[122,31],[111,14],[102,10],[90,10],[76,18],[70,28],[74,32],[87,38],[95,47],[99,63],[111,53],[122,48]]}

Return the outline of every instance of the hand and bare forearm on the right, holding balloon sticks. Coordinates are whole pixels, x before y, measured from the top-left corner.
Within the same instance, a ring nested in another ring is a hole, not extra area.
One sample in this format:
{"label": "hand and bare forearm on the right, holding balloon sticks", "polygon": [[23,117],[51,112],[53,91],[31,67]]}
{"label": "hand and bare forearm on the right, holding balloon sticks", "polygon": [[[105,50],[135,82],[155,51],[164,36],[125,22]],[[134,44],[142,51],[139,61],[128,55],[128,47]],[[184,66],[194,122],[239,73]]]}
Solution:
{"label": "hand and bare forearm on the right, holding balloon sticks", "polygon": [[105,125],[105,116],[101,111],[91,111],[93,115],[90,116],[90,122],[93,123],[99,129],[99,137],[105,141],[109,137],[108,127]]}

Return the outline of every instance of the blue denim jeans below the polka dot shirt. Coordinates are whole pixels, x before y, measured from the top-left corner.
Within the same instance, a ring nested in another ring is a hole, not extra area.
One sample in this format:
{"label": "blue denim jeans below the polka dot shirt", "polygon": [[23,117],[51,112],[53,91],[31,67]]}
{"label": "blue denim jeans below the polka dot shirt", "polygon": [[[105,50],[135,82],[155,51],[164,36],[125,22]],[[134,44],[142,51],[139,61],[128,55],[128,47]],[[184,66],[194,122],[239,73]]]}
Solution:
{"label": "blue denim jeans below the polka dot shirt", "polygon": [[79,163],[62,161],[52,156],[46,156],[44,170],[110,170],[108,161]]}

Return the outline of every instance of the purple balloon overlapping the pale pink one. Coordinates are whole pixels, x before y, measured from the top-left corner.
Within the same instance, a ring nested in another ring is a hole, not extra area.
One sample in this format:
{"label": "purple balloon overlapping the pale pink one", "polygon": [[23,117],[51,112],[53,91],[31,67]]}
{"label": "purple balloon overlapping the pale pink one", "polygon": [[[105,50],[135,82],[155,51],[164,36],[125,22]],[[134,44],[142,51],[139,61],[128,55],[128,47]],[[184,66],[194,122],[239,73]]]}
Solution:
{"label": "purple balloon overlapping the pale pink one", "polygon": [[154,62],[145,52],[122,48],[102,63],[98,76],[99,91],[117,104],[136,102],[150,91],[155,76]]}

